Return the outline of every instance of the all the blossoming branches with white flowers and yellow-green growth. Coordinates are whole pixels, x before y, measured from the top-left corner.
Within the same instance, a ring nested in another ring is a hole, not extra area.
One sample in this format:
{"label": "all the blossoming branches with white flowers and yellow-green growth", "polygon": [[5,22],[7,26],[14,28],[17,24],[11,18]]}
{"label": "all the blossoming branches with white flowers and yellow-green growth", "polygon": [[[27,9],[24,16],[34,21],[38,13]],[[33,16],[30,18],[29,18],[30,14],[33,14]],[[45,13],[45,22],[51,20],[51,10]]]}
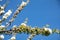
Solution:
{"label": "all the blossoming branches with white flowers and yellow-green growth", "polygon": [[6,4],[1,6],[0,5],[0,16],[3,15],[2,19],[0,19],[0,40],[4,39],[4,34],[5,35],[11,35],[13,34],[13,36],[9,39],[9,40],[16,40],[16,34],[21,34],[21,33],[26,33],[26,34],[30,34],[30,36],[27,38],[27,40],[32,40],[32,38],[35,35],[45,35],[45,36],[49,36],[52,33],[58,33],[60,34],[60,30],[58,29],[50,29],[48,27],[43,27],[43,28],[38,28],[38,27],[34,27],[32,28],[31,26],[28,26],[27,20],[23,23],[21,23],[18,27],[16,25],[13,26],[13,28],[7,30],[7,27],[9,27],[11,25],[11,23],[15,20],[16,16],[21,12],[21,10],[29,3],[30,0],[27,0],[27,2],[24,2],[22,0],[22,3],[20,4],[20,6],[17,8],[17,10],[14,12],[13,17],[6,23],[6,25],[2,25],[2,22],[4,22],[11,14],[12,14],[12,10],[8,10],[8,12],[5,13],[4,9],[6,7]]}

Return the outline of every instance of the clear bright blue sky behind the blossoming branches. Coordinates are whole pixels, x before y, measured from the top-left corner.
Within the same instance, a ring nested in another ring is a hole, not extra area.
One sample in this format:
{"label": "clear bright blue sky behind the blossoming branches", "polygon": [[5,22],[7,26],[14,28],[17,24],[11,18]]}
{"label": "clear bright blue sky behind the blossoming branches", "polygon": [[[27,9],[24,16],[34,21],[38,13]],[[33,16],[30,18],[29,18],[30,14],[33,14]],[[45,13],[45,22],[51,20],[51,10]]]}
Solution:
{"label": "clear bright blue sky behind the blossoming branches", "polygon": [[[1,5],[4,3],[6,3],[6,0],[0,2]],[[5,11],[7,12],[9,9],[12,9],[13,15],[19,4],[21,4],[21,0],[9,0]],[[6,21],[8,21],[11,16]],[[31,25],[32,27],[38,26],[43,28],[44,25],[49,24],[52,29],[60,29],[60,0],[30,0],[29,4],[18,14],[15,21],[8,28],[12,28],[13,25],[20,25],[24,22],[25,18],[28,18],[27,25]],[[5,22],[3,22],[3,24],[5,24]],[[16,38],[17,40],[26,40],[28,36],[29,35],[22,33],[17,34]],[[8,40],[10,37],[11,36],[5,35],[4,40]],[[60,35],[56,33],[48,37],[37,35],[33,40],[60,40],[59,37]]]}

